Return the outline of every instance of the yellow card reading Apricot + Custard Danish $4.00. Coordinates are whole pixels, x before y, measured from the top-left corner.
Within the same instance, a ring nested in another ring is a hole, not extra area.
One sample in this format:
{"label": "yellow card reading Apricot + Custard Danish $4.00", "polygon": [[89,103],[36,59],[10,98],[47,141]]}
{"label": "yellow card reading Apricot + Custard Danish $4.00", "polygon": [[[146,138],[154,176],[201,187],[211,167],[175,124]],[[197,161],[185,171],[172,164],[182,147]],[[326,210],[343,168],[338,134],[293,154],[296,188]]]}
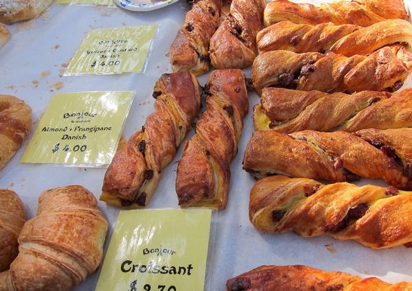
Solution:
{"label": "yellow card reading Apricot + Custard Danish $4.00", "polygon": [[156,32],[157,25],[91,30],[65,75],[140,72]]}

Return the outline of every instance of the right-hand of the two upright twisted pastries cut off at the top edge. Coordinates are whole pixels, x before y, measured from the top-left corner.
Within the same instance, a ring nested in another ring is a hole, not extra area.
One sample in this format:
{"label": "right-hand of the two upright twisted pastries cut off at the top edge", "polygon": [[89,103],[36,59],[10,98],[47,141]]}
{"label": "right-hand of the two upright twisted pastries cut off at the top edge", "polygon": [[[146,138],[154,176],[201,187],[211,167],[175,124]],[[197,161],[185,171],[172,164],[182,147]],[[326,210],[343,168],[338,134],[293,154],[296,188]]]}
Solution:
{"label": "right-hand of the two upright twisted pastries cut off at the top edge", "polygon": [[211,65],[242,69],[253,64],[256,34],[263,27],[264,0],[233,0],[230,13],[210,40]]}

